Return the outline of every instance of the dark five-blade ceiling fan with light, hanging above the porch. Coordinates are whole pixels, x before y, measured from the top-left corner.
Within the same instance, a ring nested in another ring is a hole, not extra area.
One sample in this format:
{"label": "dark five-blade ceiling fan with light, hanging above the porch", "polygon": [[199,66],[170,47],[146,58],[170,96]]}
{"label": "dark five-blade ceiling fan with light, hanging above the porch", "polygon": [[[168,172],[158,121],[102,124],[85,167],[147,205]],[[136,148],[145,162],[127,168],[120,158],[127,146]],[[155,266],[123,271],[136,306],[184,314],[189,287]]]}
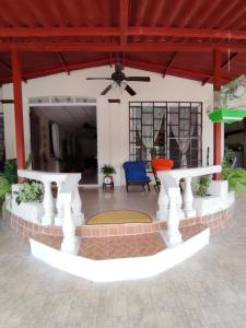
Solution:
{"label": "dark five-blade ceiling fan with light, hanging above the porch", "polygon": [[125,90],[133,96],[136,92],[133,89],[130,87],[125,81],[134,81],[134,82],[150,82],[149,77],[126,77],[126,74],[122,72],[124,67],[120,62],[115,63],[115,71],[112,73],[110,78],[86,78],[86,80],[109,80],[114,81],[107,87],[101,93],[102,95],[105,95],[114,85],[124,86]]}

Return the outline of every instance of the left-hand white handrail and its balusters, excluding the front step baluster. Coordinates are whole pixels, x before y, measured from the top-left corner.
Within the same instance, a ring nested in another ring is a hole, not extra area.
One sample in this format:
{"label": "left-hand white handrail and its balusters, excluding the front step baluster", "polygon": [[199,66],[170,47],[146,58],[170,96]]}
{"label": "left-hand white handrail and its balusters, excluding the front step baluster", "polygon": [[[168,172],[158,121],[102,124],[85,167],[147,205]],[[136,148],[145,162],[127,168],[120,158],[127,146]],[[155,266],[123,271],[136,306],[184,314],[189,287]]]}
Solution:
{"label": "left-hand white handrail and its balusters, excluding the front step baluster", "polygon": [[[71,192],[72,219],[74,220],[75,225],[83,224],[84,214],[81,211],[82,201],[79,194],[79,180],[81,179],[81,174],[48,173],[31,169],[19,169],[17,174],[20,177],[38,180],[44,184],[44,215],[40,218],[40,222],[44,225],[56,224],[58,226],[61,226],[63,224],[65,204],[61,201],[60,194],[63,184],[70,180],[71,184],[69,186]],[[58,190],[56,200],[52,197],[51,183],[55,183],[57,185]]]}

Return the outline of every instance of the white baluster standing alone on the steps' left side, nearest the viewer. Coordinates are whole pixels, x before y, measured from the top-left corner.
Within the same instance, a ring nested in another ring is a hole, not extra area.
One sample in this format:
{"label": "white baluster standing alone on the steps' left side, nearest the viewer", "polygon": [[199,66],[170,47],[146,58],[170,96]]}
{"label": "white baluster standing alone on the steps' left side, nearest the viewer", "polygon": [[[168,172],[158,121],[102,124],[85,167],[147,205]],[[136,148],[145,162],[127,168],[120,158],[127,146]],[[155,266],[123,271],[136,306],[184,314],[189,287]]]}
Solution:
{"label": "white baluster standing alone on the steps' left side, nearest the viewer", "polygon": [[71,200],[63,200],[65,221],[62,225],[63,239],[61,250],[77,255],[79,250],[79,238],[75,236],[75,225],[72,220]]}

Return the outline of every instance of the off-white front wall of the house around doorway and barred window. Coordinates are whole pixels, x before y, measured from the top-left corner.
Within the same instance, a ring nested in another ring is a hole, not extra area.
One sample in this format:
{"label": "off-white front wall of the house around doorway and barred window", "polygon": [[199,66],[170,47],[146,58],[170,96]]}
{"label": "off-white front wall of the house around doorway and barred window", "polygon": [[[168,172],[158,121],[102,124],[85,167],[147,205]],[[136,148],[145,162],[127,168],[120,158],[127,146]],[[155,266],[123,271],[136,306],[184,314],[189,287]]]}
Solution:
{"label": "off-white front wall of the house around doorway and barred window", "polygon": [[[131,97],[126,92],[121,95],[117,91],[110,91],[107,96],[99,93],[105,89],[105,81],[85,81],[86,77],[109,77],[113,72],[110,67],[104,66],[66,73],[49,75],[28,80],[23,83],[23,112],[25,129],[25,152],[31,150],[30,142],[30,114],[28,97],[48,95],[69,95],[69,96],[91,96],[97,101],[97,149],[98,165],[110,163],[116,166],[116,185],[124,183],[121,169],[122,163],[129,157],[129,101],[184,101],[203,103],[203,165],[206,165],[207,148],[210,147],[210,164],[213,161],[213,125],[209,120],[206,110],[211,105],[212,85],[201,86],[200,82],[174,78],[167,75],[165,79],[161,74],[126,68],[128,75],[149,75],[150,83],[131,82],[137,95]],[[12,84],[2,86],[4,98],[12,98]],[[109,104],[108,98],[120,97],[120,104]],[[13,105],[4,105],[5,118],[5,147],[7,157],[15,155],[14,138],[14,115]],[[102,178],[102,177],[101,177]],[[99,179],[101,181],[101,179]]]}

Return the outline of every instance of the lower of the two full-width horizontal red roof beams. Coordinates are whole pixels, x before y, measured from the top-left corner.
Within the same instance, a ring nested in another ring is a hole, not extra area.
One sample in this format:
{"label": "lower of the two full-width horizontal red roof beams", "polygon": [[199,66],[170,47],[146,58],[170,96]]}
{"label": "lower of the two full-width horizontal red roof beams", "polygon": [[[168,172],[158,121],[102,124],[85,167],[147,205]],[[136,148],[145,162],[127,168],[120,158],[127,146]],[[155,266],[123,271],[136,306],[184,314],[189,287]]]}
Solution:
{"label": "lower of the two full-width horizontal red roof beams", "polygon": [[[0,51],[17,49],[21,51],[93,51],[93,52],[169,52],[169,51],[211,51],[219,49],[227,52],[229,44],[203,43],[131,43],[119,45],[116,43],[0,43]],[[231,52],[246,52],[246,44],[231,44]]]}

